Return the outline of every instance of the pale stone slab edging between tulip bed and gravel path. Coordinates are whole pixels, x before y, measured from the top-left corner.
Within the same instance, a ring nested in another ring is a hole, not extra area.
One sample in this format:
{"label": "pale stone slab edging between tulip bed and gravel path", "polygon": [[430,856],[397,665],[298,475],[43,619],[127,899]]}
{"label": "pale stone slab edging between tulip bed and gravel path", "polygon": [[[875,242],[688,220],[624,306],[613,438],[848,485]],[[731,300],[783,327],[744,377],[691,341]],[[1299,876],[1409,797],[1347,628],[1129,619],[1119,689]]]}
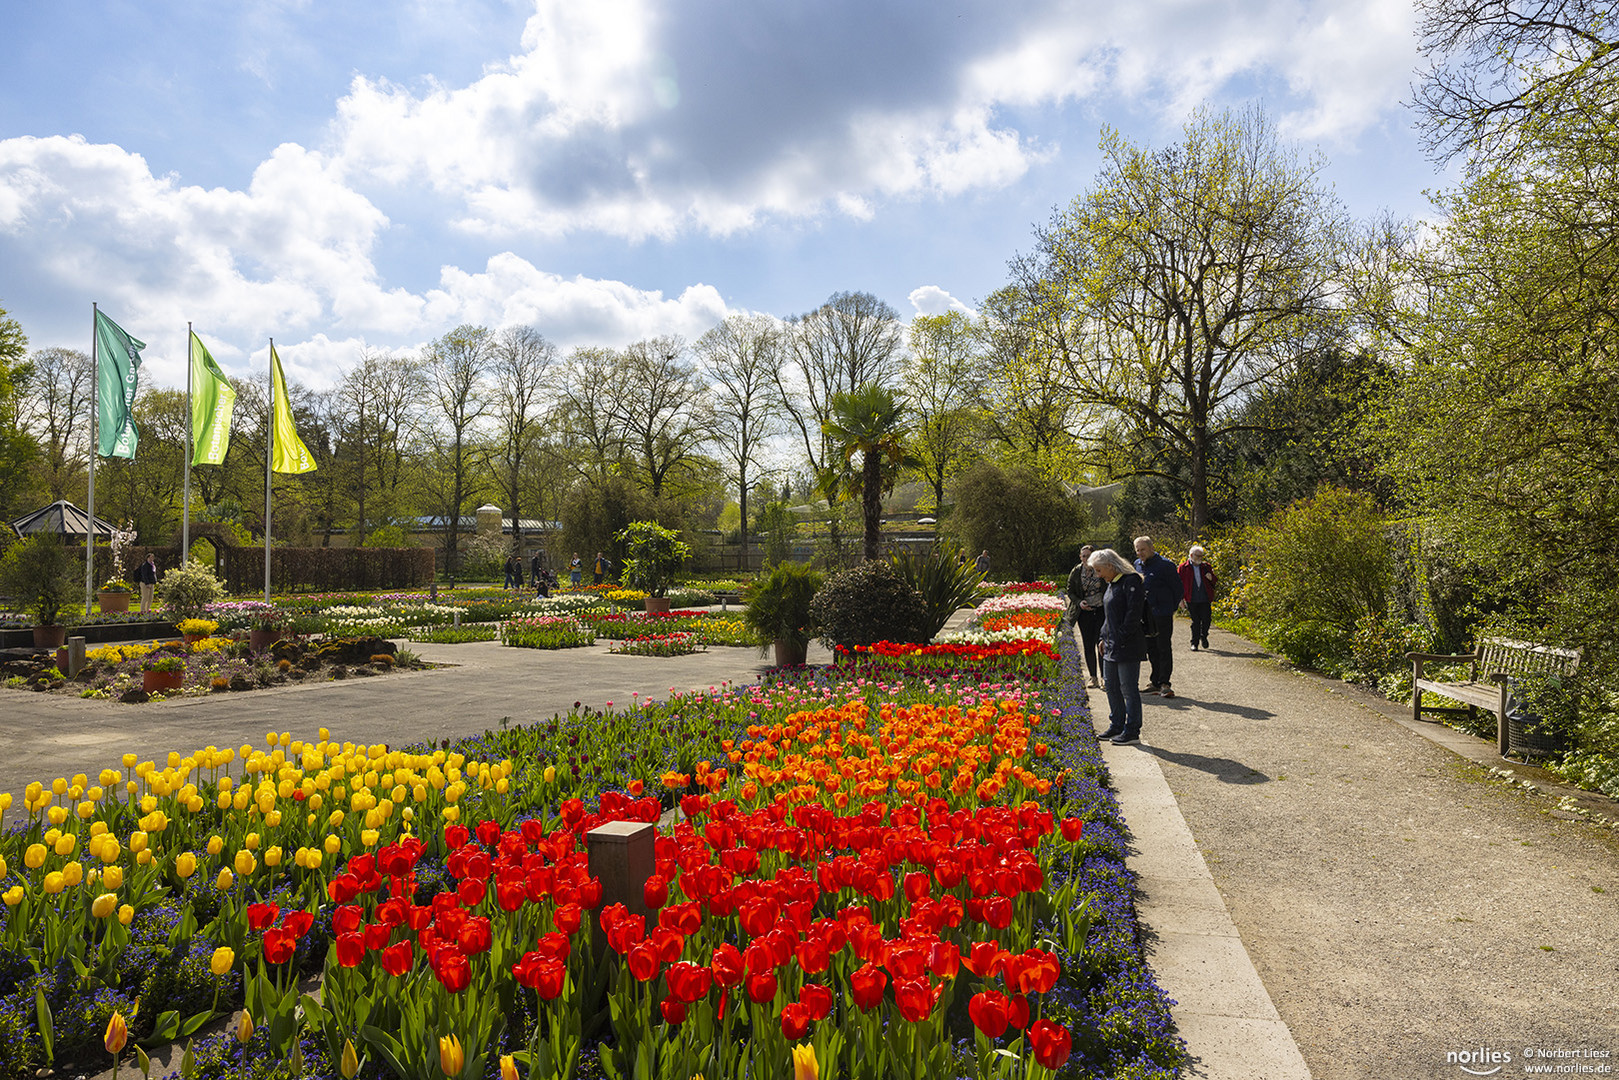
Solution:
{"label": "pale stone slab edging between tulip bed and gravel path", "polygon": [[1158,984],[1206,1080],[1311,1080],[1292,1031],[1260,980],[1158,758],[1103,745],[1133,837],[1137,918]]}

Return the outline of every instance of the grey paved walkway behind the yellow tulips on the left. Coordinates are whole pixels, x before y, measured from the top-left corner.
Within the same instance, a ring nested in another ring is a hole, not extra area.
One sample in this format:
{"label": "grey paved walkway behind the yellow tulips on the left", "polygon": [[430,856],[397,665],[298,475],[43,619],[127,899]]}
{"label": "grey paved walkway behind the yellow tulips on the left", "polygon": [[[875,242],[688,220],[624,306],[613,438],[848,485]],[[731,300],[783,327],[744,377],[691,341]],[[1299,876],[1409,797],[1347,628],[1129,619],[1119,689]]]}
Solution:
{"label": "grey paved walkway behind the yellow tulips on the left", "polygon": [[[403,745],[474,735],[567,712],[575,701],[597,709],[672,690],[753,683],[772,661],[754,648],[711,648],[691,656],[610,656],[610,641],[565,651],[510,649],[495,641],[410,644],[423,659],[455,667],[393,672],[348,682],[295,683],[243,693],[210,693],[149,704],[86,701],[0,690],[0,792],[23,805],[31,780],[117,767],[125,751],[165,759],[214,746],[262,745],[266,732]],[[810,662],[831,662],[811,643]],[[15,818],[13,818],[15,821]]]}

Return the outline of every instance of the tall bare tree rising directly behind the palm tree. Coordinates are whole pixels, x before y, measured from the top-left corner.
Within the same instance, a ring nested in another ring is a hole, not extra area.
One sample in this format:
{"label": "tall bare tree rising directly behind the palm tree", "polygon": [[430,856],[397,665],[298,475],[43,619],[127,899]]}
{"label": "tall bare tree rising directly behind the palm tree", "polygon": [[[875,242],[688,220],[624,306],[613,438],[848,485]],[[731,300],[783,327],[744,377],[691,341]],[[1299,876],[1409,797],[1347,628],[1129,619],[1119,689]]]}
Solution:
{"label": "tall bare tree rising directly behind the palm tree", "polygon": [[776,384],[805,458],[821,474],[837,458],[824,431],[832,395],[894,385],[903,343],[900,317],[871,293],[834,293],[787,322]]}

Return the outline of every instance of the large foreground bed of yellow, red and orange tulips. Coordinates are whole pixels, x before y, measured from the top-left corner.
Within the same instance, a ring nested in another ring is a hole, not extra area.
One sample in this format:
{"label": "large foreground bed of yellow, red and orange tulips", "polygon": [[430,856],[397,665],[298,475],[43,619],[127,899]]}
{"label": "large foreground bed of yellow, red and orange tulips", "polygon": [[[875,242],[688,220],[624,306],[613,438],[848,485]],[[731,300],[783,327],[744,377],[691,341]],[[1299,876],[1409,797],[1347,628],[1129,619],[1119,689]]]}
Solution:
{"label": "large foreground bed of yellow, red and orange tulips", "polygon": [[[1057,665],[874,649],[448,748],[280,733],[29,789],[0,1074],[241,1002],[196,1075],[1175,1075]],[[628,905],[584,857],[607,821],[664,821]]]}

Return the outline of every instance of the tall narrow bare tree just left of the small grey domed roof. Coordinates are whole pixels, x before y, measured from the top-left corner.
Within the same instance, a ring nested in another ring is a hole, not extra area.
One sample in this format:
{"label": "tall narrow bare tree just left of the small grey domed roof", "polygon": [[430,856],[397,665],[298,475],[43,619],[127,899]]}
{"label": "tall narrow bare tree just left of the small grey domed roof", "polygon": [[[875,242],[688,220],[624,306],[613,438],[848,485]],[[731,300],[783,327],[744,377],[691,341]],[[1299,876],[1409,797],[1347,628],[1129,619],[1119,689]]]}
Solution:
{"label": "tall narrow bare tree just left of the small grey domed roof", "polygon": [[484,453],[478,426],[489,415],[484,376],[492,355],[487,327],[458,325],[427,345],[424,353],[427,393],[437,406],[431,440],[442,489],[445,573],[455,576],[466,502],[478,494],[476,478]]}

